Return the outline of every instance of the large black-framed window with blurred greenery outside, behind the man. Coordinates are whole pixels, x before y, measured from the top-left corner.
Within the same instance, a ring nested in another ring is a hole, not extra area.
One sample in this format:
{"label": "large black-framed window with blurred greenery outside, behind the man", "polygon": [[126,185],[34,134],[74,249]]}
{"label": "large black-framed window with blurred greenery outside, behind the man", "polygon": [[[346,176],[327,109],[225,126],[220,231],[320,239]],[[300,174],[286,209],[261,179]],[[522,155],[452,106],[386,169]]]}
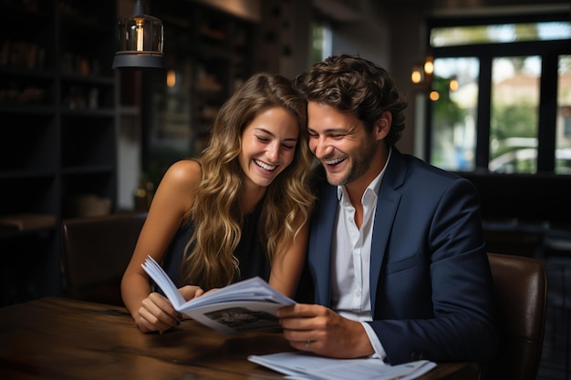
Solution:
{"label": "large black-framed window with blurred greenery outside, behind the man", "polygon": [[571,174],[571,23],[568,15],[529,18],[431,20],[432,164]]}

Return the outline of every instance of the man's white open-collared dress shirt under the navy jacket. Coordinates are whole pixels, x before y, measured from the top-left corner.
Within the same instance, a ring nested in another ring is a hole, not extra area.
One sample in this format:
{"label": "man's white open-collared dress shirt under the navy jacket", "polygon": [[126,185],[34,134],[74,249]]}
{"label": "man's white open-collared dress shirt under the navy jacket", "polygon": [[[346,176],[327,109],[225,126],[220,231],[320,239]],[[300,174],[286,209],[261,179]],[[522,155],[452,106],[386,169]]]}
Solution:
{"label": "man's white open-collared dress shirt under the navy jacket", "polygon": [[337,187],[339,208],[335,237],[332,241],[331,308],[341,316],[363,324],[375,350],[374,357],[378,358],[385,357],[385,350],[377,334],[365,322],[372,320],[369,290],[370,247],[380,182],[386,168],[387,164],[363,193],[363,222],[360,229],[355,222],[355,207],[349,201],[345,186]]}

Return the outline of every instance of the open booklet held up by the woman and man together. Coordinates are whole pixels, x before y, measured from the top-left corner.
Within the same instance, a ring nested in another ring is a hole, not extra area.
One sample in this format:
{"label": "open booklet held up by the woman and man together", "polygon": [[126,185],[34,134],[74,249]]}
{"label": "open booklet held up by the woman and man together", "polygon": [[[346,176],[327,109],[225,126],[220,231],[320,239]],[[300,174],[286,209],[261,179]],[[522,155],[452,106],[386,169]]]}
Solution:
{"label": "open booklet held up by the woman and man together", "polygon": [[151,256],[141,266],[161,288],[177,312],[224,334],[275,330],[279,328],[275,311],[282,306],[296,303],[275,291],[260,277],[235,282],[185,301],[168,274]]}

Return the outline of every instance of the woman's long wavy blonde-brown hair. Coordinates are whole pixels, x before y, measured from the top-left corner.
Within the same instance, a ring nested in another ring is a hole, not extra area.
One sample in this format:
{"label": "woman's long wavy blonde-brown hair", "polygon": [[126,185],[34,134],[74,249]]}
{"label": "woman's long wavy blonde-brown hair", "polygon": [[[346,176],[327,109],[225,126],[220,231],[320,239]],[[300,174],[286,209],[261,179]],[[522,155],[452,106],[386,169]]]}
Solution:
{"label": "woman's long wavy blonde-brown hair", "polygon": [[209,145],[202,152],[202,180],[189,220],[194,231],[182,261],[183,283],[208,290],[234,282],[240,276],[234,250],[242,237],[244,173],[238,156],[244,128],[268,108],[284,108],[299,125],[299,139],[291,164],[268,186],[263,199],[259,236],[272,262],[277,252],[296,239],[308,222],[314,203],[310,190],[313,155],[307,146],[306,100],[279,75],[258,73],[224,103]]}

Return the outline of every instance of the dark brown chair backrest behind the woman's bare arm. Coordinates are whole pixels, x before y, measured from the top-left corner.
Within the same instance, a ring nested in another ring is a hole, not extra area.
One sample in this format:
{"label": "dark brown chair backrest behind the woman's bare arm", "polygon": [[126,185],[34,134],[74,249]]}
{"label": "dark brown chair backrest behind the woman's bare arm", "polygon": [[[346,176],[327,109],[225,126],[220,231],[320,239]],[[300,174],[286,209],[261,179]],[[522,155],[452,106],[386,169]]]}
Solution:
{"label": "dark brown chair backrest behind the woman's bare arm", "polygon": [[63,270],[70,298],[121,305],[120,282],[146,212],[62,221]]}

